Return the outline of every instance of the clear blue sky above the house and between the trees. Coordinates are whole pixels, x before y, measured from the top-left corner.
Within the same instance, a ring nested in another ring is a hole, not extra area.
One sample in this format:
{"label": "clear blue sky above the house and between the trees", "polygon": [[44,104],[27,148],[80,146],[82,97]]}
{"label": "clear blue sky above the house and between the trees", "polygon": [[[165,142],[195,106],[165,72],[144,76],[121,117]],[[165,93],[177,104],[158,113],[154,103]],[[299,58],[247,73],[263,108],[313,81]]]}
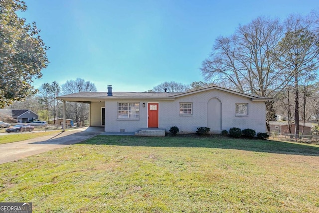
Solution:
{"label": "clear blue sky above the house and between the trees", "polygon": [[215,39],[258,16],[308,14],[318,0],[24,0],[50,49],[41,84],[83,78],[98,91],[203,81]]}

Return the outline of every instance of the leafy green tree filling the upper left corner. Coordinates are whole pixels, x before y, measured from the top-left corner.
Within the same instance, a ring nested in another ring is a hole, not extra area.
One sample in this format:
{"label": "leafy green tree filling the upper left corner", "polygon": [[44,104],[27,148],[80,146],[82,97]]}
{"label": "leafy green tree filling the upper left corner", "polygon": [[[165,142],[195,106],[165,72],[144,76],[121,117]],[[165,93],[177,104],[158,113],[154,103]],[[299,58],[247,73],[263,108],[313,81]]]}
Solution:
{"label": "leafy green tree filling the upper left corner", "polygon": [[0,108],[35,94],[31,83],[48,64],[35,22],[17,15],[26,8],[21,0],[0,0]]}

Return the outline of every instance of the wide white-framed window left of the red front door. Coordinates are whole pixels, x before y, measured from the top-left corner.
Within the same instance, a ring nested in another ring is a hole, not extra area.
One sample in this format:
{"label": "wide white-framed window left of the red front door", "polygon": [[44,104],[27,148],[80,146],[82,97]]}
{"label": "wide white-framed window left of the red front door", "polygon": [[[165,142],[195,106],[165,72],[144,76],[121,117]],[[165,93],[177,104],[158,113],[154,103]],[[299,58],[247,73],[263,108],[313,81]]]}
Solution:
{"label": "wide white-framed window left of the red front door", "polygon": [[139,119],[140,103],[118,103],[119,119]]}

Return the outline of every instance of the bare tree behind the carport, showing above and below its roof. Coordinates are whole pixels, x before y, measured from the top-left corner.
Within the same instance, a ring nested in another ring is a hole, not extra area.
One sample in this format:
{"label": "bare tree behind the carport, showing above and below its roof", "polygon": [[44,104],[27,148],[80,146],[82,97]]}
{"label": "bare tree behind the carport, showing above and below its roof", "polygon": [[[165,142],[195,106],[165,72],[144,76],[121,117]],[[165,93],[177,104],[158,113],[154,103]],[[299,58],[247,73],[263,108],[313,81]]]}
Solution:
{"label": "bare tree behind the carport, showing above and below its roof", "polygon": [[[72,94],[77,92],[96,92],[94,83],[77,78],[76,80],[68,80],[61,85],[62,94]],[[66,103],[66,117],[78,123],[84,123],[89,119],[89,106],[85,103]]]}

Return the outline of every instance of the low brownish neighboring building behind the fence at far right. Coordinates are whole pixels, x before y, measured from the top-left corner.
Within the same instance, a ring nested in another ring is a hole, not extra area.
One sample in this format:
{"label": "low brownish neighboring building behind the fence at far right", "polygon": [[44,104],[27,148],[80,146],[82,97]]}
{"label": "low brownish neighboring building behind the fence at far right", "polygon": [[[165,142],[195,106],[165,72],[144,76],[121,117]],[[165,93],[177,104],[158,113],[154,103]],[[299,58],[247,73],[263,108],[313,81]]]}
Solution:
{"label": "low brownish neighboring building behind the fence at far right", "polygon": [[[280,122],[280,121],[270,121],[270,131],[278,132],[279,134],[295,134],[295,124],[292,124],[291,133],[289,133],[288,122]],[[299,132],[302,134],[304,130],[304,135],[311,135],[314,130],[314,125],[312,123],[299,123]]]}

